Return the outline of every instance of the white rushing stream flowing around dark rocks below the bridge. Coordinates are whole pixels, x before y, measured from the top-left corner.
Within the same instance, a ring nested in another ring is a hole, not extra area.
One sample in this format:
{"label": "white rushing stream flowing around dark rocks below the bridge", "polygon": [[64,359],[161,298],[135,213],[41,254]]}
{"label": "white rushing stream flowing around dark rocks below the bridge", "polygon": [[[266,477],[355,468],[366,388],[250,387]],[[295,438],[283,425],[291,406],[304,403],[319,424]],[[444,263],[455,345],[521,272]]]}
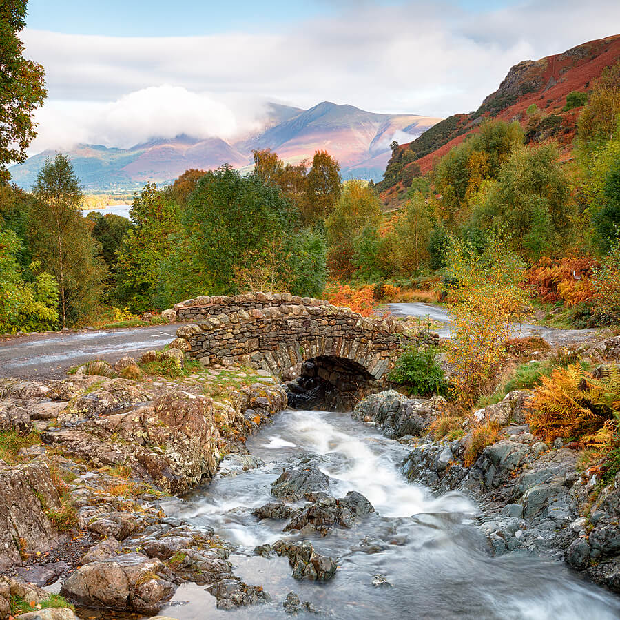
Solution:
{"label": "white rushing stream flowing around dark rocks below the bridge", "polygon": [[[203,586],[187,584],[162,615],[178,620],[289,618],[282,601],[292,591],[334,619],[620,617],[618,597],[561,563],[522,552],[488,555],[473,521],[475,504],[461,493],[433,497],[406,482],[398,468],[406,446],[346,413],[283,411],[248,440],[247,448],[265,464],[234,477],[217,475],[208,486],[164,508],[195,526],[214,528],[238,546],[230,557],[236,575],[263,586],[271,603],[218,610]],[[295,464],[302,455],[311,455],[329,475],[331,495],[357,490],[376,513],[326,537],[282,533],[287,521],[258,521],[251,510],[276,501],[271,482],[284,464]],[[335,577],[327,583],[298,581],[286,557],[254,555],[255,546],[278,539],[310,540],[318,552],[338,560]],[[373,585],[376,575],[388,583]],[[300,612],[298,617],[316,616]]]}

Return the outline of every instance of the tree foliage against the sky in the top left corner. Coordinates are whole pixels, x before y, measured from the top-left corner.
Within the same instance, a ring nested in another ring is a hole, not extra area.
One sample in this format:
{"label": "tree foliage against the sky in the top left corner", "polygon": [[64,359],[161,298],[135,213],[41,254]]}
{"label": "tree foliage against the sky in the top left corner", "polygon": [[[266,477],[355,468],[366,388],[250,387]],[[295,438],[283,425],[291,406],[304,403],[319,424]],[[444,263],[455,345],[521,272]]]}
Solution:
{"label": "tree foliage against the sky in the top left corner", "polygon": [[0,3],[0,183],[10,178],[10,163],[25,161],[25,149],[37,134],[32,113],[47,95],[43,67],[23,58],[17,36],[25,27],[26,4]]}

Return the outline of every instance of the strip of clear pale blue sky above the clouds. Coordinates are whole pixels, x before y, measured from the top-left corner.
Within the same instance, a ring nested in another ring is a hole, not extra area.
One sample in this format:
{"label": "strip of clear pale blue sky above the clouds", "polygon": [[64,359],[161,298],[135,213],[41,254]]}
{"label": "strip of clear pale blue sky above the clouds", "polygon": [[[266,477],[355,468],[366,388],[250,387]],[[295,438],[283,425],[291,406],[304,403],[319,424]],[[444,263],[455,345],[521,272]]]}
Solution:
{"label": "strip of clear pale blue sky above the clouds", "polygon": [[[273,30],[304,19],[333,17],[364,0],[256,0],[190,1],[30,0],[28,25],[68,34],[107,34],[127,37],[200,35],[237,30]],[[404,0],[366,2],[377,10],[404,5]],[[448,6],[475,14],[517,4],[515,0],[452,0]]]}

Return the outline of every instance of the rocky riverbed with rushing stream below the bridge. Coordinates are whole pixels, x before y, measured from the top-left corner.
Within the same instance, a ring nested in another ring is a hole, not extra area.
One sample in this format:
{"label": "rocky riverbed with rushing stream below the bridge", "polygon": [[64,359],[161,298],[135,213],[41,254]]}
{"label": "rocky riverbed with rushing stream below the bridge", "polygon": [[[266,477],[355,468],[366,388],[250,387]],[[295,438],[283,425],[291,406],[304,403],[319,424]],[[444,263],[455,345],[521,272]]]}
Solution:
{"label": "rocky riverbed with rushing stream below the bridge", "polygon": [[620,479],[532,435],[528,392],[465,466],[441,397],[291,411],[266,374],[0,380],[0,619],[620,616]]}

